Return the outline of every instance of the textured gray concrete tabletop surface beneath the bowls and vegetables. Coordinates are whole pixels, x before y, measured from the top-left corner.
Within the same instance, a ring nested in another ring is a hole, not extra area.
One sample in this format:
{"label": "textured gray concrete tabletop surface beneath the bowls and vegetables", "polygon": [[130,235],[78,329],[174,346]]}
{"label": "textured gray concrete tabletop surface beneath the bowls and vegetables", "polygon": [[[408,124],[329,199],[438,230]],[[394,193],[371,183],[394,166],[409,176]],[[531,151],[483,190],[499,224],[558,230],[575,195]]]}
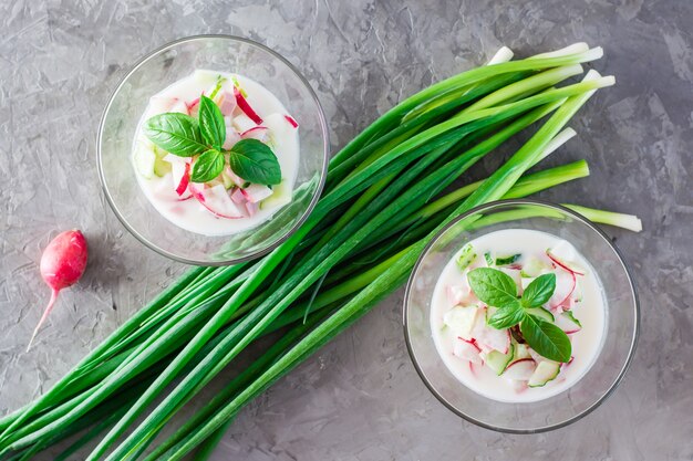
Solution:
{"label": "textured gray concrete tabletop surface beneath the bowls and vegetables", "polygon": [[[196,33],[265,42],[308,76],[337,147],[501,44],[527,55],[585,40],[604,46],[596,67],[618,85],[580,112],[579,137],[552,160],[586,157],[592,176],[544,197],[643,219],[641,234],[609,230],[643,314],[618,391],[546,434],[461,421],[408,360],[400,292],[247,408],[215,459],[693,459],[693,2],[2,0],[0,21],[0,412],[40,394],[182,271],[126,233],[96,178],[101,111],[144,52]],[[48,300],[41,249],[72,227],[91,244],[86,276],[25,354]]]}

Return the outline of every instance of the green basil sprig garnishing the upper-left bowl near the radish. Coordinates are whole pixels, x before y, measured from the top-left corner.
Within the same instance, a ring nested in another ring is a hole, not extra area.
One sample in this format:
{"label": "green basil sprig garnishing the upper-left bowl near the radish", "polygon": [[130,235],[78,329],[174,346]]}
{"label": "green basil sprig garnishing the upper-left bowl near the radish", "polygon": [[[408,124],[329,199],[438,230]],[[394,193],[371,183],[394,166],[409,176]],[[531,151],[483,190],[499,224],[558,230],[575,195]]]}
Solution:
{"label": "green basil sprig garnishing the upper-left bowl near the radish", "polygon": [[223,148],[226,123],[219,107],[207,96],[199,98],[198,118],[165,113],[151,117],[144,134],[154,145],[179,157],[198,156],[193,163],[193,182],[207,182],[221,174],[227,163],[236,175],[250,184],[273,186],[281,182],[279,160],[258,139],[241,139],[230,150]]}

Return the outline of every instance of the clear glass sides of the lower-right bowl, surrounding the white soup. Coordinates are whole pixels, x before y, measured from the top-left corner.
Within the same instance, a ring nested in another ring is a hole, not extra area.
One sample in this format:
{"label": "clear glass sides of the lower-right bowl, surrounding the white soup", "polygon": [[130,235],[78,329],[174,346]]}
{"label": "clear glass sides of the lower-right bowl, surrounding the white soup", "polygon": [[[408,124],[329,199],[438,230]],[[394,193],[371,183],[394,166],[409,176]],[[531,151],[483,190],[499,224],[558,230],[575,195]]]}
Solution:
{"label": "clear glass sides of the lower-right bowl, surrounding the white soup", "polygon": [[[532,229],[571,242],[592,264],[607,302],[602,347],[592,366],[561,394],[532,402],[501,402],[467,388],[448,370],[431,332],[431,301],[447,262],[467,242],[503,229]],[[633,356],[639,306],[633,281],[607,234],[582,216],[538,200],[501,200],[446,226],[424,250],[404,297],[404,335],[414,366],[453,412],[484,428],[536,433],[567,426],[597,408],[618,386]]]}

